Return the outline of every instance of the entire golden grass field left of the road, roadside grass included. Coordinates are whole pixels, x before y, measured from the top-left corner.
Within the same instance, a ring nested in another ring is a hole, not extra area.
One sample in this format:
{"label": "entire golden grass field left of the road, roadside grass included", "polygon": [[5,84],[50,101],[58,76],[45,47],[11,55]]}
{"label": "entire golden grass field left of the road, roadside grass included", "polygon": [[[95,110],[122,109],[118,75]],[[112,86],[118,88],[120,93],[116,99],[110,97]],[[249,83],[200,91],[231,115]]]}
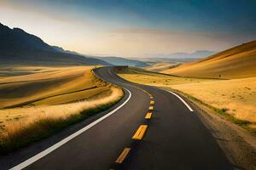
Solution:
{"label": "entire golden grass field left of the road, roadside grass included", "polygon": [[3,68],[0,71],[0,144],[15,140],[14,136],[42,120],[62,123],[81,112],[97,110],[121,99],[122,89],[102,82],[92,68]]}

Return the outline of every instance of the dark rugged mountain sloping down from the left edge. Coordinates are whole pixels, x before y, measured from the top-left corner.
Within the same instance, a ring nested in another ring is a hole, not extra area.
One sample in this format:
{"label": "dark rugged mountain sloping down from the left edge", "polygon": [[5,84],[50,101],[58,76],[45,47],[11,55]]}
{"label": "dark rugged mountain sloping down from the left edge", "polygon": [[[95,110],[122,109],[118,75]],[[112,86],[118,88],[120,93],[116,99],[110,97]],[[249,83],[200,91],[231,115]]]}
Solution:
{"label": "dark rugged mountain sloping down from the left edge", "polygon": [[109,65],[100,59],[84,57],[63,48],[50,46],[39,37],[20,28],[10,29],[0,23],[1,63],[44,63],[61,65]]}

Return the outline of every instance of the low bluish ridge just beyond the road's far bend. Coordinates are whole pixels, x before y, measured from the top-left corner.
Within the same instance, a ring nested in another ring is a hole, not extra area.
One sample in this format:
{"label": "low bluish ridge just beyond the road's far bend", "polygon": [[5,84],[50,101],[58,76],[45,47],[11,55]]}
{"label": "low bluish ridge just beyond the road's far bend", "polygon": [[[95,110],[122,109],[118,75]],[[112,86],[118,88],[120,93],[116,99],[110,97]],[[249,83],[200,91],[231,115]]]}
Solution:
{"label": "low bluish ridge just beyond the road's far bend", "polygon": [[148,66],[146,62],[137,59],[124,59],[120,57],[96,57],[96,59],[101,59],[112,65],[129,65],[135,67],[145,67]]}

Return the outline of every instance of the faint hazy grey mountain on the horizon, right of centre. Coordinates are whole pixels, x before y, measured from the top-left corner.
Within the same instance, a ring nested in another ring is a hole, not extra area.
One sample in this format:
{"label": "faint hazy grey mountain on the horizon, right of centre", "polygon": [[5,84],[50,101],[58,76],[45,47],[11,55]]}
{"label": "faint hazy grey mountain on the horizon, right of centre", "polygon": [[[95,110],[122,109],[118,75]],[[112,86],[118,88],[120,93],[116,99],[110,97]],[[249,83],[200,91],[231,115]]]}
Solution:
{"label": "faint hazy grey mountain on the horizon, right of centre", "polygon": [[198,50],[194,53],[174,53],[174,54],[155,54],[154,57],[167,58],[167,59],[201,59],[208,57],[217,52],[207,51],[207,50]]}

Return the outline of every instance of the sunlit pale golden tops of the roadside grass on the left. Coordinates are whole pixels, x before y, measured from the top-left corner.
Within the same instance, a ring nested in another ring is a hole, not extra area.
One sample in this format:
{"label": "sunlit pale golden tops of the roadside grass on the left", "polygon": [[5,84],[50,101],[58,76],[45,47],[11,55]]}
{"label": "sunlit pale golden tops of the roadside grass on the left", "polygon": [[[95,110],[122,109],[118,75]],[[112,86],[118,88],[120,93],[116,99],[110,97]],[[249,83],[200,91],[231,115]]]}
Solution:
{"label": "sunlit pale golden tops of the roadside grass on the left", "polygon": [[123,91],[120,88],[110,88],[108,95],[102,94],[97,99],[79,101],[65,105],[47,105],[31,108],[14,108],[0,110],[0,120],[3,127],[3,135],[11,135],[16,133],[22,127],[28,127],[38,119],[59,119],[67,118],[68,116],[76,115],[85,110],[90,110],[99,105],[107,105],[120,99]]}

